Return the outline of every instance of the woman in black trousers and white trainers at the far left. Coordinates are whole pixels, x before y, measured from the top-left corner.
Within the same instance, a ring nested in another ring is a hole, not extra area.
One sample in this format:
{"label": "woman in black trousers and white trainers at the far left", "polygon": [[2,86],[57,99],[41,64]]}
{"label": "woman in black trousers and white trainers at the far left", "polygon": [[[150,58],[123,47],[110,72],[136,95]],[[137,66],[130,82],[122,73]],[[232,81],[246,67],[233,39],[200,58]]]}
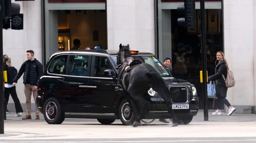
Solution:
{"label": "woman in black trousers and white trainers at the far left", "polygon": [[7,55],[4,55],[4,63],[4,71],[7,71],[7,82],[4,82],[4,98],[6,99],[5,106],[7,109],[7,104],[11,94],[16,110],[15,116],[19,117],[22,115],[23,109],[17,96],[16,86],[12,85],[13,79],[17,75],[17,69],[15,67],[12,67],[11,58]]}

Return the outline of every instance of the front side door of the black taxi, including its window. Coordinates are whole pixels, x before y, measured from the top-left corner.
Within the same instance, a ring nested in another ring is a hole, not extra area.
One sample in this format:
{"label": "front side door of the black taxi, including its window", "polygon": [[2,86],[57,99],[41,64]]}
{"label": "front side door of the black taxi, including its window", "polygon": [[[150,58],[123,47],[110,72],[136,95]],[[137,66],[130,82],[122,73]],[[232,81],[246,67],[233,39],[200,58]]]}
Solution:
{"label": "front side door of the black taxi, including its window", "polygon": [[[104,71],[112,70],[112,75],[105,75]],[[91,65],[90,86],[92,88],[91,103],[94,106],[91,114],[114,113],[114,104],[116,96],[116,72],[108,57],[93,55]]]}

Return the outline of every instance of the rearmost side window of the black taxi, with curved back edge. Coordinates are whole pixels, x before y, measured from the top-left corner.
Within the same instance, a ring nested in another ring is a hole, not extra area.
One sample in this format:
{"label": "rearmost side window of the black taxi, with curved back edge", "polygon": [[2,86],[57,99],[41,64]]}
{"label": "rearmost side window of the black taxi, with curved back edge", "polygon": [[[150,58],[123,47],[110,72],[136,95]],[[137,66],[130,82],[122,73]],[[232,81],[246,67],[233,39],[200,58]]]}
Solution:
{"label": "rearmost side window of the black taxi, with curved back edge", "polygon": [[68,55],[60,55],[55,57],[48,68],[48,72],[52,74],[66,74],[66,63]]}

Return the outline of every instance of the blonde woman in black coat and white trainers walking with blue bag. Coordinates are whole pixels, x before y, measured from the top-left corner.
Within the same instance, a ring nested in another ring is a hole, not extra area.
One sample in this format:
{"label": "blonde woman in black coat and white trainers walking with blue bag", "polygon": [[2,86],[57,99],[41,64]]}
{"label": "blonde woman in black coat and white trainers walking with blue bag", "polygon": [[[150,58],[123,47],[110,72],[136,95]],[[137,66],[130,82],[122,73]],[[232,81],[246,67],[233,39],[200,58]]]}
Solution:
{"label": "blonde woman in black coat and white trainers walking with blue bag", "polygon": [[222,115],[221,113],[221,106],[224,103],[228,106],[228,116],[232,115],[236,108],[232,107],[231,104],[226,99],[228,88],[226,87],[226,83],[222,74],[224,75],[225,79],[227,78],[228,74],[228,62],[225,59],[224,53],[222,51],[218,51],[216,53],[216,65],[215,74],[208,77],[208,80],[213,80],[216,84],[216,96],[218,98],[218,108],[212,115]]}

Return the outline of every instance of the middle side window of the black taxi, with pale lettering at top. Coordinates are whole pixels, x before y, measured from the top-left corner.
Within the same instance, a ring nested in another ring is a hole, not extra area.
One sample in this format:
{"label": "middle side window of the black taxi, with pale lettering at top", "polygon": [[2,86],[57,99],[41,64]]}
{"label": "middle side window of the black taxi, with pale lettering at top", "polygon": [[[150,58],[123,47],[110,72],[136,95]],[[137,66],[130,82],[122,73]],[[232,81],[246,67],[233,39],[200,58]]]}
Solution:
{"label": "middle side window of the black taxi, with pale lettering at top", "polygon": [[68,72],[72,76],[89,76],[88,55],[70,55]]}

